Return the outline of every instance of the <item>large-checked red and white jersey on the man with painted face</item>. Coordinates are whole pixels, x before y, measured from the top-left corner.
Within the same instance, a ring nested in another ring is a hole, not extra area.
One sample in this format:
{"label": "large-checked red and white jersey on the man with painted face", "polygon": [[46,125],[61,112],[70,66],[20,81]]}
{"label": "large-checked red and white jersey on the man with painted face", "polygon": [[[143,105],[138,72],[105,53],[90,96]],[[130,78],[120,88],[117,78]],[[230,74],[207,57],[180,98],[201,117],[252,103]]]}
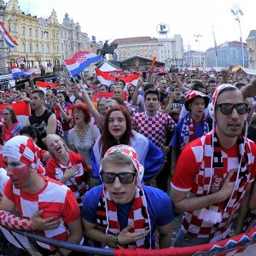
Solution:
{"label": "large-checked red and white jersey on the man with painted face", "polygon": [[[67,223],[75,221],[80,216],[79,205],[70,189],[54,179],[44,177],[44,189],[36,194],[28,194],[22,189],[15,189],[11,180],[6,183],[4,194],[10,201],[15,202],[23,218],[32,218],[32,215],[43,210],[42,218],[56,216],[61,219],[59,227],[55,230],[36,231],[41,236],[66,241],[68,237]],[[38,242],[47,249],[47,244]]]}

